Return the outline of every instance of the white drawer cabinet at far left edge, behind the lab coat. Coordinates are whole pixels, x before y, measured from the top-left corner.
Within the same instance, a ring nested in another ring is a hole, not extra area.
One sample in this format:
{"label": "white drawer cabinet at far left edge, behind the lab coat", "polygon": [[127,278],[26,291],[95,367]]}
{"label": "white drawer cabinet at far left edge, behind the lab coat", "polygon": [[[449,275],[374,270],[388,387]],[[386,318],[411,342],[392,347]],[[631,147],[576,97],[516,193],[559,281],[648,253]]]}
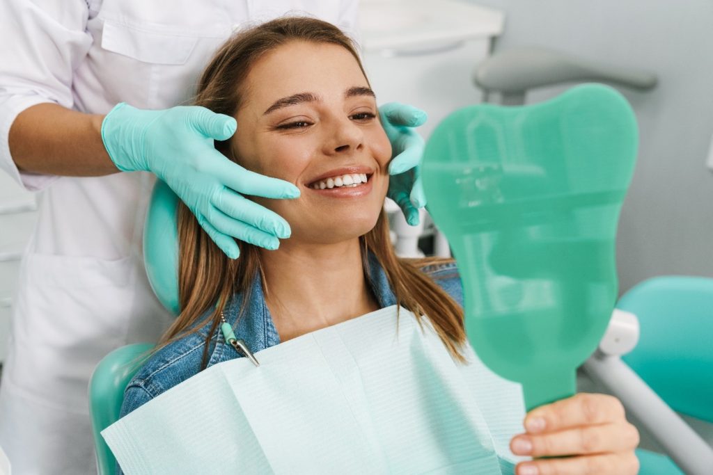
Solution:
{"label": "white drawer cabinet at far left edge, behind the lab coat", "polygon": [[19,260],[35,220],[34,195],[0,172],[0,362],[6,355],[10,306],[16,289]]}

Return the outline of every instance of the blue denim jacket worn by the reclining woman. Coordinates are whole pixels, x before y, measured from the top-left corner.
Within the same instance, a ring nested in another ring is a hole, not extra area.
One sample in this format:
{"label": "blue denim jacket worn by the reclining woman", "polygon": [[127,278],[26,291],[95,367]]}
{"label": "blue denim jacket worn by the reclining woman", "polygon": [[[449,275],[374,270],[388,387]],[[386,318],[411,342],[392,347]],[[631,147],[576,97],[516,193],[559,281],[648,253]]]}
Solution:
{"label": "blue denim jacket worn by the reclining woman", "polygon": [[[431,277],[438,286],[441,286],[454,301],[463,305],[463,288],[455,262],[426,266],[421,268],[421,271]],[[379,308],[396,304],[396,297],[391,290],[384,269],[371,255],[369,256],[367,281]],[[234,328],[235,337],[244,340],[252,353],[280,343],[270,310],[265,305],[265,295],[262,292],[259,276],[252,283],[252,290],[247,295],[249,299],[247,307],[236,326],[243,298],[245,295],[235,295],[224,312],[225,320]],[[210,326],[210,323],[207,323],[198,332],[166,345],[145,362],[126,387],[121,406],[121,417],[200,372]],[[208,366],[243,357],[232,345],[226,343],[220,329],[217,329],[210,339],[208,355]]]}

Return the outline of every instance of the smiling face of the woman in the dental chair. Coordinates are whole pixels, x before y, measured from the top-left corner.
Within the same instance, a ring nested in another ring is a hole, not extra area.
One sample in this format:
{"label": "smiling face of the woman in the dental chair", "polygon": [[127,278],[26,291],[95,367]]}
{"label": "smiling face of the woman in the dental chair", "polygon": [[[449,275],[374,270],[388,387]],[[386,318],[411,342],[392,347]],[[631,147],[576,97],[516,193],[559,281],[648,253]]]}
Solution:
{"label": "smiling face of the woman in the dental chair", "polygon": [[292,41],[255,63],[243,91],[232,154],[299,188],[297,199],[254,198],[287,219],[290,242],[329,244],[370,231],[389,185],[391,145],[354,56]]}

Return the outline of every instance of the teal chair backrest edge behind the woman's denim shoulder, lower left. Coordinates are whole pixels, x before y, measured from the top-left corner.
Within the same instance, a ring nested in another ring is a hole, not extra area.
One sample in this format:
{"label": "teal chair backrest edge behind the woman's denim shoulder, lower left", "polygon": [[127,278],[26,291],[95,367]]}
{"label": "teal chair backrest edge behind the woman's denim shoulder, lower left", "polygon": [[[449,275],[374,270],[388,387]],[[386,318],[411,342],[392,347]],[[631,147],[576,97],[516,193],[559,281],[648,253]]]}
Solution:
{"label": "teal chair backrest edge behind the woman's denim shoulder, lower left", "polygon": [[101,437],[101,431],[119,418],[126,385],[151,348],[151,343],[135,343],[113,350],[99,362],[89,381],[94,448],[97,471],[101,475],[116,472],[116,459]]}

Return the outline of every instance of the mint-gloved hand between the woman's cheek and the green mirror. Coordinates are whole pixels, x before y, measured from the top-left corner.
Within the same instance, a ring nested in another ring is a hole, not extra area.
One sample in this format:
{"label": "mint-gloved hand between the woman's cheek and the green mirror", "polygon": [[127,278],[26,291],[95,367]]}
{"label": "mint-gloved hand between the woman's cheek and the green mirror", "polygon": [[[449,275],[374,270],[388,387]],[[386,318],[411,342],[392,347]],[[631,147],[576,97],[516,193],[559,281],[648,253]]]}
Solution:
{"label": "mint-gloved hand between the woman's cheek and the green mirror", "polygon": [[400,103],[382,105],[379,115],[393,150],[386,196],[399,205],[406,222],[416,226],[419,224],[419,208],[426,206],[426,196],[419,167],[424,155],[424,138],[414,127],[424,125],[428,116],[423,110]]}

